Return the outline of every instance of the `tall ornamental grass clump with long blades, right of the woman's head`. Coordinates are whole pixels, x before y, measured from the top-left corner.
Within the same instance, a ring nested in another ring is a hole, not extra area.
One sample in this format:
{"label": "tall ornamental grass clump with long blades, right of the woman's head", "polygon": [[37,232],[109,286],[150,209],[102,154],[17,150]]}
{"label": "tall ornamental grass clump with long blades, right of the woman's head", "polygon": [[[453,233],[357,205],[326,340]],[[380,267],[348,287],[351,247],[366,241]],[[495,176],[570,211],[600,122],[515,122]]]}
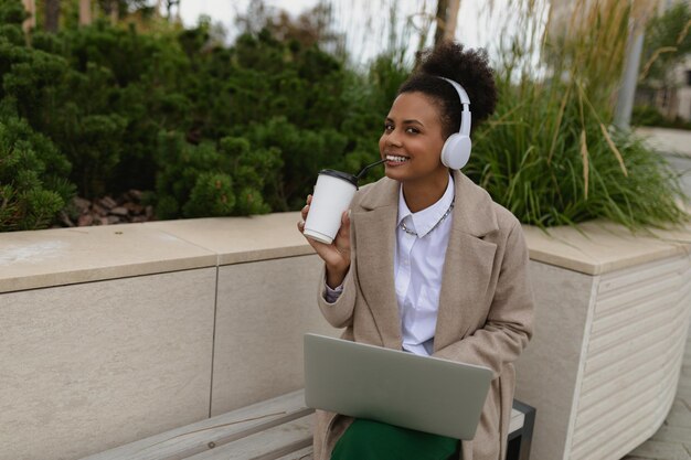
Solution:
{"label": "tall ornamental grass clump with long blades, right of the woman's head", "polygon": [[[607,218],[631,229],[689,220],[679,174],[613,126],[631,26],[651,7],[618,0],[511,0],[499,43],[496,115],[474,133],[467,169],[525,224]],[[510,23],[509,23],[510,21]]]}

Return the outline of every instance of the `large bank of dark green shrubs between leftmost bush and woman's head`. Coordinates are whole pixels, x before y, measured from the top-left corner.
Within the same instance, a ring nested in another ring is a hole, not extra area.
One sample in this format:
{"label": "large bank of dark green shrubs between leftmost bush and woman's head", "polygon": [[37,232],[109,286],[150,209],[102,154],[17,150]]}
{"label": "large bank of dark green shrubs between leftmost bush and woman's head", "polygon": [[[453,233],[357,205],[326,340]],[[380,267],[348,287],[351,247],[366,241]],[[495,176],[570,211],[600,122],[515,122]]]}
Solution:
{"label": "large bank of dark green shrubs between leftmost bush and woman's head", "polygon": [[1,1],[2,104],[66,156],[79,195],[156,190],[162,218],[301,207],[320,169],[378,159],[407,75],[387,58],[358,75],[266,29],[226,47],[209,21],[157,34],[97,21],[28,45],[21,2]]}

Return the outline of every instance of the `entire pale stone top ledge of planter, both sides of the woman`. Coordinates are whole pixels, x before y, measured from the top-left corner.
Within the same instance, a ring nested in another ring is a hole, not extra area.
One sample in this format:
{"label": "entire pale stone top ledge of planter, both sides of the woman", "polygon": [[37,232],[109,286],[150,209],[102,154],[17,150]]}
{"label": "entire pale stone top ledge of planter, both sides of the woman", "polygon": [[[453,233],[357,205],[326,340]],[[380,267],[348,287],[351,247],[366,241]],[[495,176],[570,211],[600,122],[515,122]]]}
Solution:
{"label": "entire pale stone top ledge of planter, both sides of the woman", "polygon": [[[0,234],[0,292],[313,254],[299,213]],[[688,254],[691,224],[634,235],[605,222],[545,234],[524,226],[534,261],[587,275]]]}

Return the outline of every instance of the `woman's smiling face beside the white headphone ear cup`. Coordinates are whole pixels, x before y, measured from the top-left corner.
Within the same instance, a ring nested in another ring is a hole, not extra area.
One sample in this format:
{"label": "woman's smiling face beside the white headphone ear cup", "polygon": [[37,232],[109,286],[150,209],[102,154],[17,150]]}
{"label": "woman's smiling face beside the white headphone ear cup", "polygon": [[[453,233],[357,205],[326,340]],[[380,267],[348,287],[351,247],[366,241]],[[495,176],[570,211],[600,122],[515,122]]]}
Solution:
{"label": "woman's smiling face beside the white headphone ear cup", "polygon": [[442,164],[444,127],[437,107],[423,93],[403,93],[386,116],[379,151],[386,176],[403,183],[446,183]]}

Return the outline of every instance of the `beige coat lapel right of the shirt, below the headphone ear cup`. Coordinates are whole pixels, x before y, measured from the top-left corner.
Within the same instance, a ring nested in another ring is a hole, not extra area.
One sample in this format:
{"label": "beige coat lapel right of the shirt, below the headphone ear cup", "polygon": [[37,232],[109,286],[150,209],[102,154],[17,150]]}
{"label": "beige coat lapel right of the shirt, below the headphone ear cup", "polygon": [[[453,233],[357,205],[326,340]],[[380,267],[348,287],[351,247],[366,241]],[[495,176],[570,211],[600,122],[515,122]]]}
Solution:
{"label": "beige coat lapel right of the shirt, below the headphone ear cup", "polygon": [[458,171],[454,174],[456,206],[444,261],[435,351],[466,336],[481,311],[492,274],[497,245],[482,237],[499,226],[489,194]]}

